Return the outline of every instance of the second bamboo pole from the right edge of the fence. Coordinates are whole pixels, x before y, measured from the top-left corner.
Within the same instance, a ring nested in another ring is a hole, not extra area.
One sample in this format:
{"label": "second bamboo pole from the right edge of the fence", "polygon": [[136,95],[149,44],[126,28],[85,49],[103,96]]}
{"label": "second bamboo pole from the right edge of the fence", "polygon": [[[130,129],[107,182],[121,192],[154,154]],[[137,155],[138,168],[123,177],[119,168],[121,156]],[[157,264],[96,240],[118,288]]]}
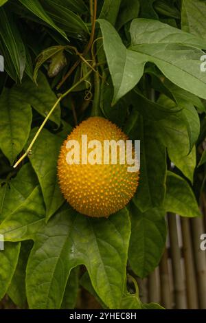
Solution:
{"label": "second bamboo pole from the right edge of the fence", "polygon": [[188,309],[198,309],[198,295],[189,219],[181,218],[181,229],[183,235],[183,256],[185,260],[187,307]]}

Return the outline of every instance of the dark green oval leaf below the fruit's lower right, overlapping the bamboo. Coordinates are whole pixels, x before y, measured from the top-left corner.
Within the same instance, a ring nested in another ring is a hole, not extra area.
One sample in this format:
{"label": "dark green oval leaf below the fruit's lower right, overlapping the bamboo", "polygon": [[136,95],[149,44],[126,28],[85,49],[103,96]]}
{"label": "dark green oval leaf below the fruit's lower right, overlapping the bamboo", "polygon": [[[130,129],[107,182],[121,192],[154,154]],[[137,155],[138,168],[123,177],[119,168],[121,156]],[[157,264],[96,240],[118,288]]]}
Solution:
{"label": "dark green oval leaf below the fruit's lower right, overlapping the bamboo", "polygon": [[135,274],[144,278],[159,265],[165,249],[165,211],[151,208],[141,212],[131,205],[130,215],[132,231],[128,258]]}

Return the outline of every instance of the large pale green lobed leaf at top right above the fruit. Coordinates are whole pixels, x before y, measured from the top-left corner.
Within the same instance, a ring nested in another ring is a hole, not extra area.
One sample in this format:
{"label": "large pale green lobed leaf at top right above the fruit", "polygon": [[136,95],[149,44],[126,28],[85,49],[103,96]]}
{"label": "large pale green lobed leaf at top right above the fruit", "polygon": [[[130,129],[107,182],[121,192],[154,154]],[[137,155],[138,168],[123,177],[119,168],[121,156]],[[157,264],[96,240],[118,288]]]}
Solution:
{"label": "large pale green lobed leaf at top right above the fruit", "polygon": [[[113,80],[113,104],[135,87],[147,62],[155,63],[174,84],[206,98],[206,76],[200,69],[200,57],[204,52],[198,49],[204,46],[202,40],[181,31],[173,35],[169,30],[165,41],[159,34],[157,21],[152,21],[148,33],[148,20],[135,19],[130,29],[133,45],[126,49],[119,34],[108,21],[99,20],[99,23]],[[167,31],[168,25],[164,25]],[[151,36],[152,30],[154,34]]]}

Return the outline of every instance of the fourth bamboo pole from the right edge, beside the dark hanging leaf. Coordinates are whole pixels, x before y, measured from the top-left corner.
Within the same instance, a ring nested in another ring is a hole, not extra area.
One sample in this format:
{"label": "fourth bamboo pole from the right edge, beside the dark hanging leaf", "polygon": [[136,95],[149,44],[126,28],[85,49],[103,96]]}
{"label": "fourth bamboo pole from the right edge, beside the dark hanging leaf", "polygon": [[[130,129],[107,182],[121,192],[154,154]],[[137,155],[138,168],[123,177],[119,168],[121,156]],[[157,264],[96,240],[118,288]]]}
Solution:
{"label": "fourth bamboo pole from the right edge, beside the dark hanging leaf", "polygon": [[161,258],[159,264],[160,271],[160,289],[161,289],[161,305],[165,309],[172,309],[172,291],[170,287],[170,273],[168,268],[168,249],[165,248],[165,252]]}

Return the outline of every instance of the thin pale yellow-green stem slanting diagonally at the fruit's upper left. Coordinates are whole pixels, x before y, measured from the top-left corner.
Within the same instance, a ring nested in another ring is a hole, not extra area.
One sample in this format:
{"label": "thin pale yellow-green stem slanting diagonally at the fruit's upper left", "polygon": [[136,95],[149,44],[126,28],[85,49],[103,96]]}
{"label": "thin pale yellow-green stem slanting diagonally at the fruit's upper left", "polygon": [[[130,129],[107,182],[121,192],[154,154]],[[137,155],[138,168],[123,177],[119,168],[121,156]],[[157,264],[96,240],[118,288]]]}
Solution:
{"label": "thin pale yellow-green stem slanting diagonally at the fruit's upper left", "polygon": [[43,123],[41,124],[40,128],[38,129],[38,131],[36,132],[36,135],[34,136],[30,146],[27,148],[27,150],[25,151],[25,153],[21,156],[21,158],[19,158],[18,161],[16,161],[16,164],[14,164],[14,168],[16,168],[21,161],[23,161],[23,159],[25,159],[25,157],[27,157],[27,155],[30,153],[34,142],[36,142],[36,139],[38,138],[38,135],[41,133],[43,127],[45,126],[47,120],[50,118],[50,116],[52,115],[52,113],[54,112],[54,110],[56,109],[56,107],[58,106],[59,102],[65,98],[65,96],[67,96],[71,91],[73,91],[73,89],[75,89],[81,82],[83,82],[84,80],[86,80],[88,78],[88,76],[91,74],[92,69],[85,74],[85,76],[83,78],[81,78],[78,82],[76,82],[75,85],[73,85],[72,87],[70,87],[70,89],[68,89],[65,93],[61,94],[60,97],[58,98],[58,100],[56,101],[56,103],[54,104],[54,106],[52,107],[52,109],[49,111],[49,113],[47,114],[47,117],[45,118],[45,120],[43,121]]}

